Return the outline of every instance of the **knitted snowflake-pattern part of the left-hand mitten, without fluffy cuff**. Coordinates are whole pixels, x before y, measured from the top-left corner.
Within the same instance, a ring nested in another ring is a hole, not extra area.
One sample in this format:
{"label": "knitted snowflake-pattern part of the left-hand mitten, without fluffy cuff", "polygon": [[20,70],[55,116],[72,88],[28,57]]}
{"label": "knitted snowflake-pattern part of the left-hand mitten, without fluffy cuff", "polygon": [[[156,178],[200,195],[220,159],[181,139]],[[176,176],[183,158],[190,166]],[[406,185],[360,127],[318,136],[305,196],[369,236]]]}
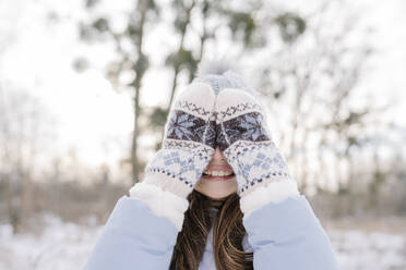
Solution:
{"label": "knitted snowflake-pattern part of the left-hand mitten, without fluffy cuff", "polygon": [[165,125],[163,146],[146,165],[144,182],[181,197],[193,189],[215,151],[214,105],[207,84],[192,83],[180,94]]}

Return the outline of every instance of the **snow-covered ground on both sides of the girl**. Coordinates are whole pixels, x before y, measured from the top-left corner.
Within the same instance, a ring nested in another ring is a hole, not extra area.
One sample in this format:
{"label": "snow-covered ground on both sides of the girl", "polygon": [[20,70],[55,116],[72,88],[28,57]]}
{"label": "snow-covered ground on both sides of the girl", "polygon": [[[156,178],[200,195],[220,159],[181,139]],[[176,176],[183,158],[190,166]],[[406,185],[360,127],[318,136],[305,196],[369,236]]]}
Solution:
{"label": "snow-covered ground on both sides of the girl", "polygon": [[[40,236],[14,236],[9,224],[0,224],[0,270],[81,269],[101,233],[101,226],[82,226],[46,216]],[[406,269],[406,236],[329,230],[339,269]]]}

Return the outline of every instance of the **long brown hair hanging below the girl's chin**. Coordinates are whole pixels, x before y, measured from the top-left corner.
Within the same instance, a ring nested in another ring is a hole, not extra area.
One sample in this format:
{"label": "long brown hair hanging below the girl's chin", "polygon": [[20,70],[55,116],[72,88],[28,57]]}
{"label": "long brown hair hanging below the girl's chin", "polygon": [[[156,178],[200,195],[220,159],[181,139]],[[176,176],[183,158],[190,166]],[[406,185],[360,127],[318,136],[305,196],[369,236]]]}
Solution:
{"label": "long brown hair hanging below the girl's chin", "polygon": [[193,189],[188,200],[190,205],[184,212],[182,231],[178,234],[169,269],[198,270],[212,226],[216,269],[253,269],[253,254],[246,253],[242,247],[247,232],[237,193],[212,199]]}

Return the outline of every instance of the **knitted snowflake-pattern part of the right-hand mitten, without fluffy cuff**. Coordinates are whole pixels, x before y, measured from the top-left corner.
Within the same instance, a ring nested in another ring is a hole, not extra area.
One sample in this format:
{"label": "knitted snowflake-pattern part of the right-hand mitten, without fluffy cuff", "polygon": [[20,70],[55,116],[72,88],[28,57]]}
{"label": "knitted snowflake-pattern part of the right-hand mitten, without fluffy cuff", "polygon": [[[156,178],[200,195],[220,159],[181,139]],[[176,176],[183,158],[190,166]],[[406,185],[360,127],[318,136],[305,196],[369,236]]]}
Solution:
{"label": "knitted snowflake-pattern part of the right-hand mitten, without fluffy cuff", "polygon": [[244,90],[229,88],[217,96],[216,140],[236,173],[240,196],[254,186],[290,177],[264,114],[255,98]]}

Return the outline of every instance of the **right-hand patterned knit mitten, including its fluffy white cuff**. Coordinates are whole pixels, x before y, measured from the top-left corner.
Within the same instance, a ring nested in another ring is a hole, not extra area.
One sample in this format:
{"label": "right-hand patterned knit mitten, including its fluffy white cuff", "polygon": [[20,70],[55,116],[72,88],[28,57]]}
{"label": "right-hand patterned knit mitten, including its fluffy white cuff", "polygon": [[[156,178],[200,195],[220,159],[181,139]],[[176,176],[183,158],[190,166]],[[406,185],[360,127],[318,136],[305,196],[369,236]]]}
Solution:
{"label": "right-hand patterned knit mitten, including its fluffy white cuff", "polygon": [[217,145],[231,165],[242,212],[298,194],[253,91],[225,88],[216,101]]}

